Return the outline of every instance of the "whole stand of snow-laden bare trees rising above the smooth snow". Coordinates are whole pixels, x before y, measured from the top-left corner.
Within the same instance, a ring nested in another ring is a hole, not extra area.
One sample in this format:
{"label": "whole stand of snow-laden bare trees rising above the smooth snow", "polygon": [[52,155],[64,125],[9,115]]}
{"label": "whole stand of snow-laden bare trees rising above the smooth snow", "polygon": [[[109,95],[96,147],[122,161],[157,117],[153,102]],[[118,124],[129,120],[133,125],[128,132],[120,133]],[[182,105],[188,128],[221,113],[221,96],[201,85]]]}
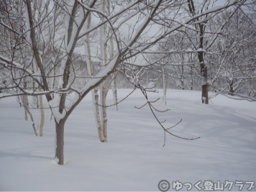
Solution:
{"label": "whole stand of snow-laden bare trees rising above the smooth snow", "polygon": [[107,111],[118,110],[120,89],[140,89],[145,101],[163,89],[165,105],[167,89],[200,91],[205,105],[219,94],[256,101],[255,53],[253,0],[0,2],[0,98],[24,108],[41,137],[46,102],[59,165],[65,122],[88,94],[99,140],[108,142]]}

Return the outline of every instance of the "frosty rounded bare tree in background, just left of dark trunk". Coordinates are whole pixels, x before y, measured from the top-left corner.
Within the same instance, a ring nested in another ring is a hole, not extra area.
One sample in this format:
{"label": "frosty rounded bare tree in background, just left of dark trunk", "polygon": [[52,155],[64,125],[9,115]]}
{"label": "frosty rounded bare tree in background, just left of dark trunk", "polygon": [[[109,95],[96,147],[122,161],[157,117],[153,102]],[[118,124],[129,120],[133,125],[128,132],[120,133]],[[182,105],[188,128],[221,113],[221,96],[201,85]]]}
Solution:
{"label": "frosty rounded bare tree in background, just left of dark trunk", "polygon": [[[172,42],[172,43],[171,43]],[[188,89],[189,83],[193,89],[193,79],[199,76],[195,69],[195,54],[191,49],[191,42],[184,33],[177,33],[159,43],[163,61],[157,61],[164,68],[167,82],[178,89]],[[170,54],[169,50],[177,50]],[[178,51],[179,50],[179,51]]]}

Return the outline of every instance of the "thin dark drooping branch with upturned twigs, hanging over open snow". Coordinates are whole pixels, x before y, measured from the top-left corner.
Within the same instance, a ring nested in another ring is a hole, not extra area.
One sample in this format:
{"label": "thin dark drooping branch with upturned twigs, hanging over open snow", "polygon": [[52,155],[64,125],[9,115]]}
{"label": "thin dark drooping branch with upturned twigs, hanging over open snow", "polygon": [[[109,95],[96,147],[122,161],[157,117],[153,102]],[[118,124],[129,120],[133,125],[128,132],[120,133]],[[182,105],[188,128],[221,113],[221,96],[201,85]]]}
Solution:
{"label": "thin dark drooping branch with upturned twigs, hanging over open snow", "polygon": [[156,118],[156,121],[159,123],[159,125],[161,126],[161,128],[164,129],[164,144],[163,144],[163,147],[164,147],[165,141],[166,141],[166,133],[169,133],[170,135],[172,135],[172,136],[174,136],[174,137],[181,138],[181,139],[185,139],[185,140],[196,140],[196,139],[200,138],[200,137],[196,137],[196,138],[193,138],[193,137],[192,137],[192,138],[180,137],[180,136],[175,135],[175,134],[171,133],[170,131],[168,131],[168,129],[172,129],[172,128],[174,128],[175,126],[177,126],[177,125],[182,121],[182,119],[180,119],[180,121],[177,122],[177,124],[175,124],[174,126],[172,126],[172,127],[170,127],[170,128],[164,128],[163,122],[165,122],[165,120],[164,120],[163,122],[159,121],[159,119],[157,118],[157,116],[156,116],[156,114],[155,114],[154,111],[157,111],[157,112],[167,112],[167,111],[170,110],[170,109],[166,109],[166,110],[157,110],[156,107],[154,107],[154,106],[152,105],[152,103],[156,103],[156,101],[158,101],[159,98],[158,98],[157,100],[154,100],[154,101],[148,101],[147,89],[145,89],[144,87],[142,87],[140,84],[138,84],[137,87],[141,90],[141,92],[142,92],[143,95],[145,96],[147,102],[146,102],[144,105],[142,105],[141,107],[135,107],[135,108],[140,109],[140,108],[143,108],[143,107],[145,107],[146,105],[148,105],[148,107],[150,108],[152,114],[153,114],[154,117]]}

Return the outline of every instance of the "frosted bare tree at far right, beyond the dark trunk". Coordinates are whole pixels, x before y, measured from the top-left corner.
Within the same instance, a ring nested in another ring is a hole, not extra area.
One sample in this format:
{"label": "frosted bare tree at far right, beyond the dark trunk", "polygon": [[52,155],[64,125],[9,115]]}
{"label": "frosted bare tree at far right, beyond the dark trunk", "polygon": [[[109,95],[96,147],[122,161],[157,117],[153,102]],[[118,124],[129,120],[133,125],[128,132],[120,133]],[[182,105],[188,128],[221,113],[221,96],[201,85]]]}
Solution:
{"label": "frosted bare tree at far right, beyond the dark trunk", "polygon": [[[214,21],[215,26],[227,20],[230,10],[225,11]],[[228,19],[223,27],[212,51],[210,59],[216,61],[218,73],[212,78],[211,85],[216,92],[227,93],[230,96],[240,96],[254,100],[253,82],[255,82],[255,21],[246,8],[241,7]],[[254,60],[254,61],[253,61]],[[250,95],[252,93],[252,95]]]}

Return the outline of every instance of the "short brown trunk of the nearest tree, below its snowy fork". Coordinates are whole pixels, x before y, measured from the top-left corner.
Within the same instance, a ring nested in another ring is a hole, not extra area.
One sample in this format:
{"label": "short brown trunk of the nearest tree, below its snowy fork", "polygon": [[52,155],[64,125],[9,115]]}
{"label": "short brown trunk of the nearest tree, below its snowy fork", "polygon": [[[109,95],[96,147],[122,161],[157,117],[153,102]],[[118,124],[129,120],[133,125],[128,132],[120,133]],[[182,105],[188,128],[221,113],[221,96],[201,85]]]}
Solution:
{"label": "short brown trunk of the nearest tree, below its snowy fork", "polygon": [[60,123],[55,122],[56,126],[56,154],[55,158],[58,158],[58,164],[64,165],[64,126],[65,120],[61,119]]}

